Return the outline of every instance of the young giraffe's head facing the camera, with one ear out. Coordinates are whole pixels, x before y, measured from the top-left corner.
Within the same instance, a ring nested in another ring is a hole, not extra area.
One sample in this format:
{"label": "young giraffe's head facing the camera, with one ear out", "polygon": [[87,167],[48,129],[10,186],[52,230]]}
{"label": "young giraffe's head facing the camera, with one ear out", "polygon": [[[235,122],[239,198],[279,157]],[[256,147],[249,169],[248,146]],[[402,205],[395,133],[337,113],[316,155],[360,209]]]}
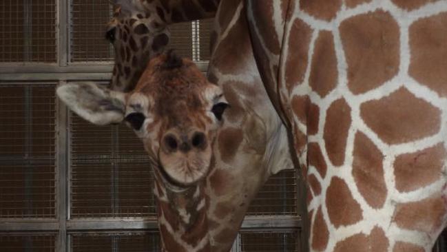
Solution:
{"label": "young giraffe's head facing the camera, with one ear out", "polygon": [[60,86],[57,94],[91,123],[127,123],[167,186],[176,188],[194,185],[208,173],[211,143],[228,106],[220,87],[171,52],[149,61],[132,92],[74,83]]}

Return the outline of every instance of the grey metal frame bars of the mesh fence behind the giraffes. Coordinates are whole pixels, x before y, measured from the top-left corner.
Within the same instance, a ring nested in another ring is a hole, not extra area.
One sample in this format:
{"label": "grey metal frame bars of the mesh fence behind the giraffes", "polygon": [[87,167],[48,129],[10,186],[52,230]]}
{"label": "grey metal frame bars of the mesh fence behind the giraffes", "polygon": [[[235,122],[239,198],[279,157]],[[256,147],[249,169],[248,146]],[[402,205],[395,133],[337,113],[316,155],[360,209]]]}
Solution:
{"label": "grey metal frame bars of the mesh fence behind the giraffes", "polygon": [[[1,82],[50,81],[62,85],[67,81],[109,81],[113,64],[70,63],[70,0],[56,0],[56,63],[2,63]],[[198,62],[205,72],[208,63]],[[57,99],[56,99],[57,100]],[[144,231],[158,229],[156,218],[88,218],[70,219],[69,195],[69,136],[68,112],[61,102],[56,103],[56,218],[0,219],[1,233],[48,234],[56,233],[55,251],[70,252],[70,234],[79,231]],[[298,190],[298,187],[297,187]],[[299,200],[297,200],[298,202]],[[299,209],[299,206],[297,206]],[[241,231],[297,231],[301,227],[299,216],[247,216]],[[231,251],[240,251],[240,236]]]}

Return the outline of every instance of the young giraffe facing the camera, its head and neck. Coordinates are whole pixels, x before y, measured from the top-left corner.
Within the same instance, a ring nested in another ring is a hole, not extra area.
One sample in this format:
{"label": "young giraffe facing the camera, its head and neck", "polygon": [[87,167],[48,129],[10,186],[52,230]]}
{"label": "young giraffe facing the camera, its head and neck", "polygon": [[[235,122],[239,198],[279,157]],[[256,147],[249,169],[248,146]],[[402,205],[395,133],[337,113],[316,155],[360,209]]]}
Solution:
{"label": "young giraffe facing the camera, its head and neck", "polygon": [[192,61],[167,52],[149,61],[132,92],[74,83],[57,95],[85,120],[124,121],[143,140],[154,169],[163,251],[209,251],[204,178],[228,106],[220,87]]}

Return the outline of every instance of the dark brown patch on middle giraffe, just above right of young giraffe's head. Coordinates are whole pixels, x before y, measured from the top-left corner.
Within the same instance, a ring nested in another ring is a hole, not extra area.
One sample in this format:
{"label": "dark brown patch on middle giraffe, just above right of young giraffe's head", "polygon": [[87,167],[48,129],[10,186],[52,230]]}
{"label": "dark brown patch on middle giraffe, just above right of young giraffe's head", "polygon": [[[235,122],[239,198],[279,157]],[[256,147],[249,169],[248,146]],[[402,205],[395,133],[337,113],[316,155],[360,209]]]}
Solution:
{"label": "dark brown patch on middle giraffe, just above right of young giraffe's head", "polygon": [[246,72],[247,66],[254,63],[251,54],[247,19],[245,15],[241,14],[225,39],[218,44],[216,51],[214,51],[212,64],[217,65],[222,74]]}

